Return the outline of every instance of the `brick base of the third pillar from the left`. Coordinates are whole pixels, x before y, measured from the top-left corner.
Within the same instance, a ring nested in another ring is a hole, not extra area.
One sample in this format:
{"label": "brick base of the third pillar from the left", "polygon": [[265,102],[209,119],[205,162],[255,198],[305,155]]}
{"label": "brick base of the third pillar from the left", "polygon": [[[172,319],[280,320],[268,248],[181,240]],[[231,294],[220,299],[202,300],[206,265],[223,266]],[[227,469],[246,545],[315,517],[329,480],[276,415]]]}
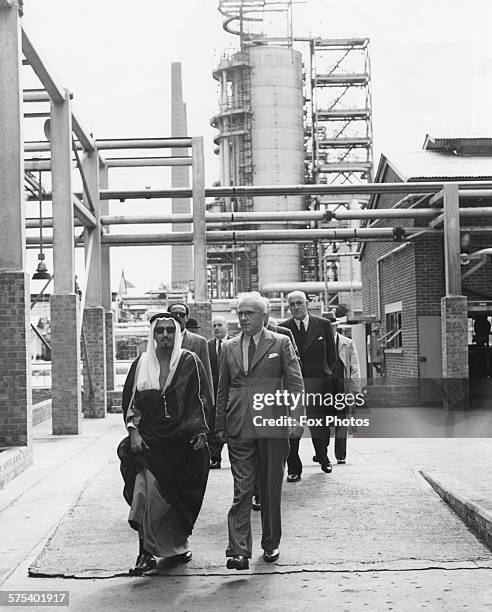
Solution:
{"label": "brick base of the third pillar from the left", "polygon": [[[106,416],[106,313],[102,306],[84,310],[82,362],[85,417]],[[85,348],[84,348],[85,343]]]}

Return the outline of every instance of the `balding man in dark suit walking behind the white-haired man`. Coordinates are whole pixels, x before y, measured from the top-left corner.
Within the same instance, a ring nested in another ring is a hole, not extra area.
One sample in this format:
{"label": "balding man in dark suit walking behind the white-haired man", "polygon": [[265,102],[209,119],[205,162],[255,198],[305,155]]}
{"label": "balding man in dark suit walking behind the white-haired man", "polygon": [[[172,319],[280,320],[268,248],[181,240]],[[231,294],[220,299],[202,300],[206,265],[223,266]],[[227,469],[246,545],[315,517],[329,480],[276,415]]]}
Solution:
{"label": "balding man in dark suit walking behind the white-haired man", "polygon": [[[302,291],[292,291],[287,296],[292,318],[282,323],[294,335],[301,356],[302,377],[307,393],[331,393],[332,373],[337,361],[335,339],[331,324],[323,317],[310,315],[307,311],[306,294]],[[323,405],[306,406],[308,418],[320,418],[327,414]],[[310,427],[315,456],[313,461],[321,465],[323,472],[332,471],[328,459],[328,444],[330,428],[322,425]],[[291,437],[290,452],[287,460],[287,481],[298,482],[301,479],[302,461],[299,457],[300,438]]]}

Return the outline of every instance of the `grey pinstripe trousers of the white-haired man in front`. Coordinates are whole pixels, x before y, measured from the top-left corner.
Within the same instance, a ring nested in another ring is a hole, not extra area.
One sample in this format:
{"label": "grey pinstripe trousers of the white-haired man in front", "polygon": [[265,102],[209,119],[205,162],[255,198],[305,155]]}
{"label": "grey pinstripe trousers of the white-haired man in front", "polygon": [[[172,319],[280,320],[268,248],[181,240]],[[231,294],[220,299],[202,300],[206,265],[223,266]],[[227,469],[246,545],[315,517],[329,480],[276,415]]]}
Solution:
{"label": "grey pinstripe trousers of the white-haired man in front", "polygon": [[278,548],[281,528],[281,498],[285,461],[289,452],[287,438],[228,437],[227,448],[234,478],[234,499],[227,516],[229,546],[226,556],[251,558],[251,498],[258,473],[261,499],[261,546]]}

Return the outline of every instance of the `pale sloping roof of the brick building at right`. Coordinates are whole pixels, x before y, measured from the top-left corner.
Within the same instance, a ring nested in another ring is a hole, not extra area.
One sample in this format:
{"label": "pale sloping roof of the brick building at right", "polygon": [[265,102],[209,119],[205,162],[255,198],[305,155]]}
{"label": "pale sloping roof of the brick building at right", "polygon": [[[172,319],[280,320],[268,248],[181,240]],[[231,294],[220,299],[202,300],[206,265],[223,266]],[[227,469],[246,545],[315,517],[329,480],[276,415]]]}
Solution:
{"label": "pale sloping roof of the brick building at right", "polygon": [[[492,178],[491,155],[458,155],[438,151],[391,153],[386,161],[402,181],[481,180]],[[378,170],[378,175],[380,172]],[[377,179],[376,179],[377,180]]]}

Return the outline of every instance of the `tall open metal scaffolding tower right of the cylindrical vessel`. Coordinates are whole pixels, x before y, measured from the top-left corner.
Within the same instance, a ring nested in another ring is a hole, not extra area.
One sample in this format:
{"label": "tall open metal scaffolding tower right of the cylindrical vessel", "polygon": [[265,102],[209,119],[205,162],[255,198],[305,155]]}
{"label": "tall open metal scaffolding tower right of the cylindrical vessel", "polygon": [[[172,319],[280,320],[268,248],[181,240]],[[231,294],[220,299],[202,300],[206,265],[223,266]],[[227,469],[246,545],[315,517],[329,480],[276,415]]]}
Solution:
{"label": "tall open metal scaffolding tower right of the cylindrical vessel", "polygon": [[[309,74],[306,75],[306,182],[315,184],[366,184],[373,176],[371,65],[369,39],[314,38],[309,41]],[[359,207],[350,194],[345,201],[314,198],[311,210],[334,211]],[[356,227],[349,221],[339,227]],[[351,245],[330,243],[303,247],[303,278],[329,281],[360,280],[360,265],[349,257]],[[360,293],[334,296],[325,307],[349,301],[350,314],[361,309]]]}

